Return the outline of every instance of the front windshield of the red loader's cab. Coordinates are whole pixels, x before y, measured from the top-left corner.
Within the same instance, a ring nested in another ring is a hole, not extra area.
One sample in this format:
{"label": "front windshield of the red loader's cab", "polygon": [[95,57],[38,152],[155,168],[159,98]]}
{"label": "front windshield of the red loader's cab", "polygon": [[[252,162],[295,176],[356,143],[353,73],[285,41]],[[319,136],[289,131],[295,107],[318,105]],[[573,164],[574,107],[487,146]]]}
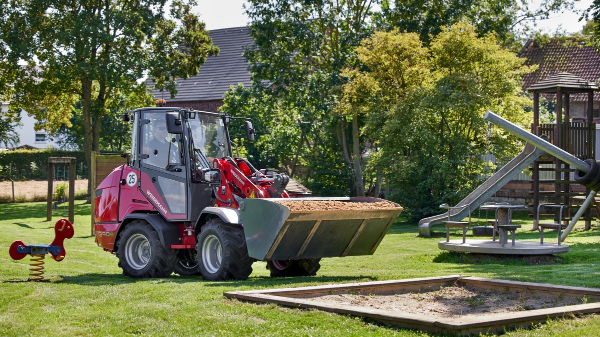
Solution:
{"label": "front windshield of the red loader's cab", "polygon": [[[206,169],[212,167],[214,158],[229,156],[229,144],[225,133],[225,125],[220,116],[198,114],[188,119],[193,151],[199,157],[198,164]],[[204,160],[206,158],[206,160]]]}

